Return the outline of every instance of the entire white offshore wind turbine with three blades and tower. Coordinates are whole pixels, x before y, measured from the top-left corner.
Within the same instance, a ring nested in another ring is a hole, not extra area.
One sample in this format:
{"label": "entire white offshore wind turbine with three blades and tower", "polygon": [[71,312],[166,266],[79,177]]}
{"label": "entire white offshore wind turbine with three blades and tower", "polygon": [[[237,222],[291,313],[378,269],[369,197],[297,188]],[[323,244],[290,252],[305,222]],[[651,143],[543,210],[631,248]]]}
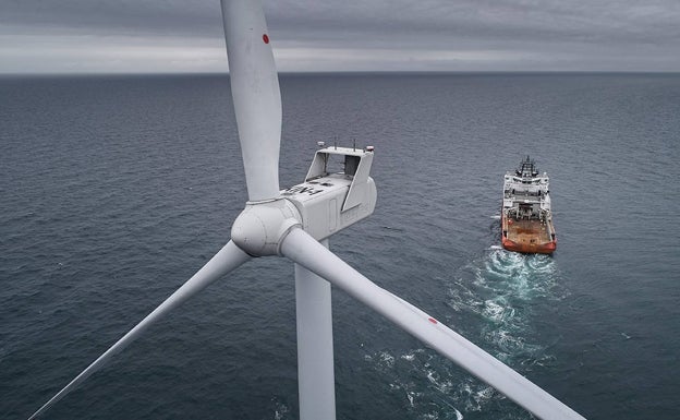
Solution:
{"label": "entire white offshore wind turbine with three blades and tower", "polygon": [[[192,278],[89,364],[31,419],[99,370],[155,322],[212,281],[258,256],[295,263],[300,418],[335,419],[331,284],[420,338],[542,419],[583,419],[579,413],[411,303],[378,287],[328,250],[328,237],[375,208],[369,177],[373,148],[316,152],[302,184],[279,190],[281,96],[259,0],[222,0],[239,137],[248,201],[231,240]],[[344,171],[328,163],[344,159]]]}

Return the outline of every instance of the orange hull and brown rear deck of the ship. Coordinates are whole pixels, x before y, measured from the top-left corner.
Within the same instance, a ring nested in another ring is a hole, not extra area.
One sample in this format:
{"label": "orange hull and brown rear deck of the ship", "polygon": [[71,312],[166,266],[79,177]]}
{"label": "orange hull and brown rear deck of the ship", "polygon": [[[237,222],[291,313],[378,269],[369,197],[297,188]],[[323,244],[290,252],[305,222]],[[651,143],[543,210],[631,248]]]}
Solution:
{"label": "orange hull and brown rear deck of the ship", "polygon": [[501,243],[508,251],[525,254],[551,254],[557,249],[557,239],[551,220],[518,220],[502,214],[501,226]]}

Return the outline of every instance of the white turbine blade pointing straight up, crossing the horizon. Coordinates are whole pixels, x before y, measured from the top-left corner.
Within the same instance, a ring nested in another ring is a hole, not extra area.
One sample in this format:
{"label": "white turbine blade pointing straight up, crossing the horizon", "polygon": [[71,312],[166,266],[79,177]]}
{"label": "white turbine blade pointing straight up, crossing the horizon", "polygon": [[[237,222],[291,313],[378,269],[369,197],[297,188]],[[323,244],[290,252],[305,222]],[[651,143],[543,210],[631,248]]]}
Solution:
{"label": "white turbine blade pointing straight up, crossing the horizon", "polygon": [[259,0],[222,0],[245,181],[252,202],[279,196],[281,92]]}

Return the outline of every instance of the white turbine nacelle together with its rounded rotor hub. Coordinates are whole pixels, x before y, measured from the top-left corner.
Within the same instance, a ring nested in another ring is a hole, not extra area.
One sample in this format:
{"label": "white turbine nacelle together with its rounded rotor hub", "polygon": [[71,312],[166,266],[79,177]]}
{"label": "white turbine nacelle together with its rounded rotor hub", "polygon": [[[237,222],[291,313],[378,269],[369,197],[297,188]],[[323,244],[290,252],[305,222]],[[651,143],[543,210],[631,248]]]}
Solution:
{"label": "white turbine nacelle together with its rounded rotor hub", "polygon": [[[343,159],[342,171],[330,171],[333,157]],[[251,256],[280,255],[281,241],[293,227],[320,241],[369,216],[377,199],[372,163],[372,148],[317,151],[305,182],[281,190],[280,199],[246,203],[231,239]]]}

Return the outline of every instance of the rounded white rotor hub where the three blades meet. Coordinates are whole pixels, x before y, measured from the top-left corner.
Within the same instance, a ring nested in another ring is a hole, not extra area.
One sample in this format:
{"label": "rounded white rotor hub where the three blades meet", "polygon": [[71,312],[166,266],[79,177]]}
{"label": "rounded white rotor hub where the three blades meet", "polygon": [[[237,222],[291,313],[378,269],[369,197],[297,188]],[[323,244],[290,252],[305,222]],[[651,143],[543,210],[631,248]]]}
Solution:
{"label": "rounded white rotor hub where the three blades meet", "polygon": [[288,200],[248,202],[231,227],[231,239],[252,256],[279,255],[281,241],[301,220]]}

